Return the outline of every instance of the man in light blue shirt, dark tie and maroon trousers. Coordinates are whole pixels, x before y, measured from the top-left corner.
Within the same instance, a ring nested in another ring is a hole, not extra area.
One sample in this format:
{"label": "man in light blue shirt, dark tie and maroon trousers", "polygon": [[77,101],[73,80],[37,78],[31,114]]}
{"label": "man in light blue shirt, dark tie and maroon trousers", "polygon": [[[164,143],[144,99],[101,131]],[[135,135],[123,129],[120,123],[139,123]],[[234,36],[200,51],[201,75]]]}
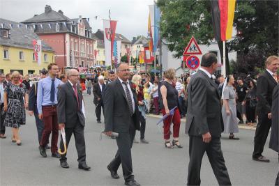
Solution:
{"label": "man in light blue shirt, dark tie and maroon trousers", "polygon": [[59,127],[57,122],[57,92],[58,87],[62,82],[57,79],[59,72],[58,65],[51,63],[47,66],[48,77],[41,79],[38,82],[38,93],[37,93],[37,108],[38,108],[38,118],[43,120],[45,123],[45,128],[43,130],[42,138],[40,140],[40,155],[47,157],[45,153],[45,146],[48,144],[48,139],[50,138],[50,133],[52,132],[52,143],[51,151],[52,157],[60,158],[59,153],[57,153],[57,141],[59,134]]}

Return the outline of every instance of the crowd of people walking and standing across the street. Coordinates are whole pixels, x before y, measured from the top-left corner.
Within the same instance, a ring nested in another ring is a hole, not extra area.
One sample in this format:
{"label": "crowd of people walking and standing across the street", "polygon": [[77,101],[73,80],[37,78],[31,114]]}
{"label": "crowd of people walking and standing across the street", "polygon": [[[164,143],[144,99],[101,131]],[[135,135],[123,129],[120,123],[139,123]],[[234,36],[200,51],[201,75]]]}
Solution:
{"label": "crowd of people walking and standing across the street", "polygon": [[[59,129],[64,129],[67,146],[72,134],[75,135],[79,169],[90,170],[86,164],[83,95],[93,93],[96,122],[102,123],[103,109],[104,132],[116,139],[118,146],[107,166],[112,178],[119,178],[117,170],[122,164],[125,184],[140,185],[133,176],[130,150],[133,143],[149,144],[145,137],[146,116],[162,113],[166,148],[183,148],[179,132],[181,118],[186,117],[186,133],[190,137],[188,185],[200,185],[204,152],[209,156],[218,183],[231,185],[220,148],[221,133],[239,140],[234,134],[246,118],[246,125],[257,127],[252,160],[269,162],[262,153],[272,123],[270,147],[278,152],[279,59],[277,56],[266,59],[266,70],[257,79],[215,76],[217,59],[211,53],[202,56],[201,65],[195,74],[181,77],[176,77],[174,69],[168,69],[160,79],[156,75],[130,72],[128,64],[120,63],[116,72],[94,72],[81,80],[78,70],[59,74],[58,66],[52,63],[47,70],[40,71],[40,77],[35,79],[39,81],[32,85],[28,75],[22,77],[17,71],[6,76],[0,74],[0,138],[5,139],[6,127],[11,127],[11,140],[22,145],[19,129],[25,124],[25,109],[28,109],[29,115],[35,117],[42,157],[47,157],[46,149],[50,148],[61,167],[69,168],[66,154],[58,153]],[[135,139],[136,130],[140,130],[140,142]],[[66,150],[62,140],[60,148]]]}

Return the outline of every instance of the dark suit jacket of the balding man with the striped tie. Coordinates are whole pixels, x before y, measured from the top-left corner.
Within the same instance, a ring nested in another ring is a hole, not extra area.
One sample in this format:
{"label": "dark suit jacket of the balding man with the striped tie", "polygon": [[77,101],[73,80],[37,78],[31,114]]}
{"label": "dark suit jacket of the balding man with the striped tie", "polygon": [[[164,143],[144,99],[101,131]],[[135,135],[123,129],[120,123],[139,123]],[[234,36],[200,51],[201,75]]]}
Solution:
{"label": "dark suit jacket of the balding man with the striped tie", "polygon": [[[133,88],[133,99],[135,102],[135,114],[130,116],[126,93],[117,78],[114,82],[107,84],[105,91],[105,131],[129,132],[130,125],[135,125],[140,130],[140,112],[137,106],[137,95]],[[132,95],[131,95],[132,96]]]}

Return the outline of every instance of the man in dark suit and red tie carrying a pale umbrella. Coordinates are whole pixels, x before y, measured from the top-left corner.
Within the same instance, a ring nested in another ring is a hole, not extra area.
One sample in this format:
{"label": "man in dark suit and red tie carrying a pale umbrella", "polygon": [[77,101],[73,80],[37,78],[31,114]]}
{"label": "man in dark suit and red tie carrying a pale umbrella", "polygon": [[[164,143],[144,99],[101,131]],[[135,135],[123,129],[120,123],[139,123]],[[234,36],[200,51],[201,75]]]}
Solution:
{"label": "man in dark suit and red tie carrying a pale umbrella", "polygon": [[[75,69],[68,71],[68,82],[59,86],[57,116],[59,129],[62,127],[66,133],[66,145],[70,142],[72,134],[75,136],[75,147],[77,148],[77,161],[79,169],[89,171],[91,168],[86,165],[84,125],[85,118],[82,113],[82,88],[80,87],[80,74]],[[63,141],[60,142],[61,151],[64,151]],[[61,155],[60,165],[69,168],[66,154]]]}

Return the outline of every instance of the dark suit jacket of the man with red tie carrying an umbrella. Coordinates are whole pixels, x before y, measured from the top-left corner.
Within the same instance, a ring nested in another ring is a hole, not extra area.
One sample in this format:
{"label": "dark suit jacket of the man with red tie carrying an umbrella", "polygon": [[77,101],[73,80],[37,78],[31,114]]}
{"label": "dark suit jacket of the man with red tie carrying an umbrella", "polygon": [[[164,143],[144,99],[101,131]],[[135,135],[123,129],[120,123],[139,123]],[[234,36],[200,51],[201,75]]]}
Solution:
{"label": "dark suit jacket of the man with red tie carrying an umbrella", "polygon": [[[77,84],[77,95],[80,104],[77,104],[77,97],[70,82],[61,84],[58,88],[57,118],[58,123],[65,123],[65,127],[75,127],[77,123],[85,125],[85,118],[82,113],[82,87]],[[79,107],[80,105],[80,107]]]}

